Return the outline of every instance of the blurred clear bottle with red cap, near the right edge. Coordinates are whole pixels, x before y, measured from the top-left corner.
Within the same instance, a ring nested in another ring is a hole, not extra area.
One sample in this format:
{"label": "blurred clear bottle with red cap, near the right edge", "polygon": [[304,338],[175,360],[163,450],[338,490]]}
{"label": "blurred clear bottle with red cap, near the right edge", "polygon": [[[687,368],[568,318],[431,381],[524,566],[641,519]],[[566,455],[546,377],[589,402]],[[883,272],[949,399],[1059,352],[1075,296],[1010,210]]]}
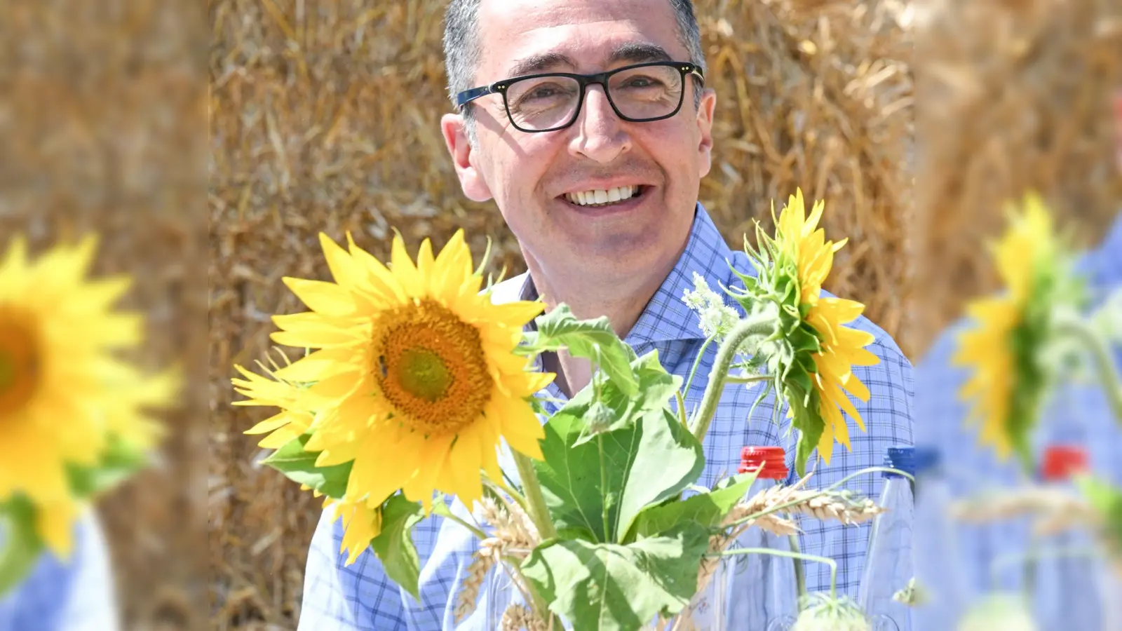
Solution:
{"label": "blurred clear bottle with red cap, near the right edge", "polygon": [[[1070,478],[1086,467],[1087,454],[1082,447],[1050,445],[1041,458],[1041,483],[1076,493],[1070,488]],[[1095,545],[1085,528],[1074,528],[1043,537],[1033,546],[1039,556],[1030,575],[1033,614],[1040,631],[1106,631],[1104,555],[1095,554]]]}

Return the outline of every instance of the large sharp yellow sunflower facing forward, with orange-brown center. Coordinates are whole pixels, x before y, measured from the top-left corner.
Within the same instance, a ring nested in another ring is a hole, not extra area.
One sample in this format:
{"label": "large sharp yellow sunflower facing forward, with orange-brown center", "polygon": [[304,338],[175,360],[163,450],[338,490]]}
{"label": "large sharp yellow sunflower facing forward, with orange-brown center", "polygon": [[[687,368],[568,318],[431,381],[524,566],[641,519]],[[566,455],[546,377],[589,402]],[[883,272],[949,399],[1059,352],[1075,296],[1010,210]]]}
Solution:
{"label": "large sharp yellow sunflower facing forward, with orange-brown center", "polygon": [[527,397],[553,375],[514,350],[544,305],[494,304],[462,231],[435,257],[425,239],[415,265],[396,236],[388,269],[347,239],[320,238],[333,283],[284,280],[311,311],[274,318],[274,341],[319,349],[275,373],[311,384],[306,449],[320,467],[352,463],[347,502],[373,509],[402,490],[426,511],[438,491],[471,505],[480,470],[502,475],[500,439],[542,458]]}

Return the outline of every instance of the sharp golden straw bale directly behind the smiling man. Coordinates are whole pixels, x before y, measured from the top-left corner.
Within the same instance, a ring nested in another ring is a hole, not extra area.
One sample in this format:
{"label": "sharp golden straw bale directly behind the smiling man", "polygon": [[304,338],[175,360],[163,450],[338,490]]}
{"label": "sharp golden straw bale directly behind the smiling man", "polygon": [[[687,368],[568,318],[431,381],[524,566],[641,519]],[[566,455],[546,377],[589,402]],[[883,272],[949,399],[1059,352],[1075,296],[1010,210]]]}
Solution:
{"label": "sharp golden straw bale directly behind the smiling man", "polygon": [[[260,358],[269,314],[301,305],[282,285],[325,278],[316,235],[355,234],[379,258],[392,228],[411,252],[465,228],[491,269],[522,272],[493,203],[459,189],[439,117],[449,111],[443,2],[214,0],[211,72],[211,468],[213,629],[292,629],[319,503],[254,464],[233,409],[234,363]],[[900,328],[907,276],[910,45],[902,4],[698,3],[707,83],[718,92],[714,168],[701,201],[734,247],[771,200],[827,199],[830,238],[850,237],[828,289]]]}

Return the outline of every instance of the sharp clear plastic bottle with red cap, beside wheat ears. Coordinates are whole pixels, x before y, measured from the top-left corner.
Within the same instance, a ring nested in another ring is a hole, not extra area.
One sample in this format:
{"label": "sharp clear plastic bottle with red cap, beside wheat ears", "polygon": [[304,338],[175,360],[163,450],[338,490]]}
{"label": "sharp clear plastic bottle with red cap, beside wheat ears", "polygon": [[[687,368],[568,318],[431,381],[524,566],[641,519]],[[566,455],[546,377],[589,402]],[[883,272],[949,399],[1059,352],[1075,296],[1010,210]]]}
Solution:
{"label": "sharp clear plastic bottle with red cap, beside wheat ears", "polygon": [[[782,447],[745,447],[739,473],[758,470],[745,499],[787,484],[789,472]],[[797,537],[797,536],[792,536]],[[764,548],[792,551],[791,537],[756,527],[748,528],[729,550]],[[729,631],[754,629],[782,631],[794,623],[799,613],[797,566],[801,560],[764,554],[724,557],[715,580],[724,592],[724,627]]]}

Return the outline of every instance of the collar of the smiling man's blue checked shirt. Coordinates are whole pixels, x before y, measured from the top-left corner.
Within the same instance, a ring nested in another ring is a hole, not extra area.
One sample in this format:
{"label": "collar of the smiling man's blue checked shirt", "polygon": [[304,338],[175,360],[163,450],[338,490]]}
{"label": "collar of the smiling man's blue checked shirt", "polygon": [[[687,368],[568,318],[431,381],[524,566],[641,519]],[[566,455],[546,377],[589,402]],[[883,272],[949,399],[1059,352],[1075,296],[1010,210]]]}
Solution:
{"label": "collar of the smiling man's blue checked shirt", "polygon": [[[698,313],[687,307],[682,298],[687,290],[693,290],[693,273],[697,272],[708,281],[714,291],[724,295],[726,304],[741,311],[737,303],[725,295],[720,287],[721,284],[726,287],[743,287],[741,280],[729,268],[733,257],[734,252],[699,202],[686,249],[624,341],[634,347],[644,342],[705,339]],[[751,265],[738,265],[737,268],[743,274],[755,275]],[[530,274],[524,273],[522,276],[517,300],[537,300],[537,290]]]}

